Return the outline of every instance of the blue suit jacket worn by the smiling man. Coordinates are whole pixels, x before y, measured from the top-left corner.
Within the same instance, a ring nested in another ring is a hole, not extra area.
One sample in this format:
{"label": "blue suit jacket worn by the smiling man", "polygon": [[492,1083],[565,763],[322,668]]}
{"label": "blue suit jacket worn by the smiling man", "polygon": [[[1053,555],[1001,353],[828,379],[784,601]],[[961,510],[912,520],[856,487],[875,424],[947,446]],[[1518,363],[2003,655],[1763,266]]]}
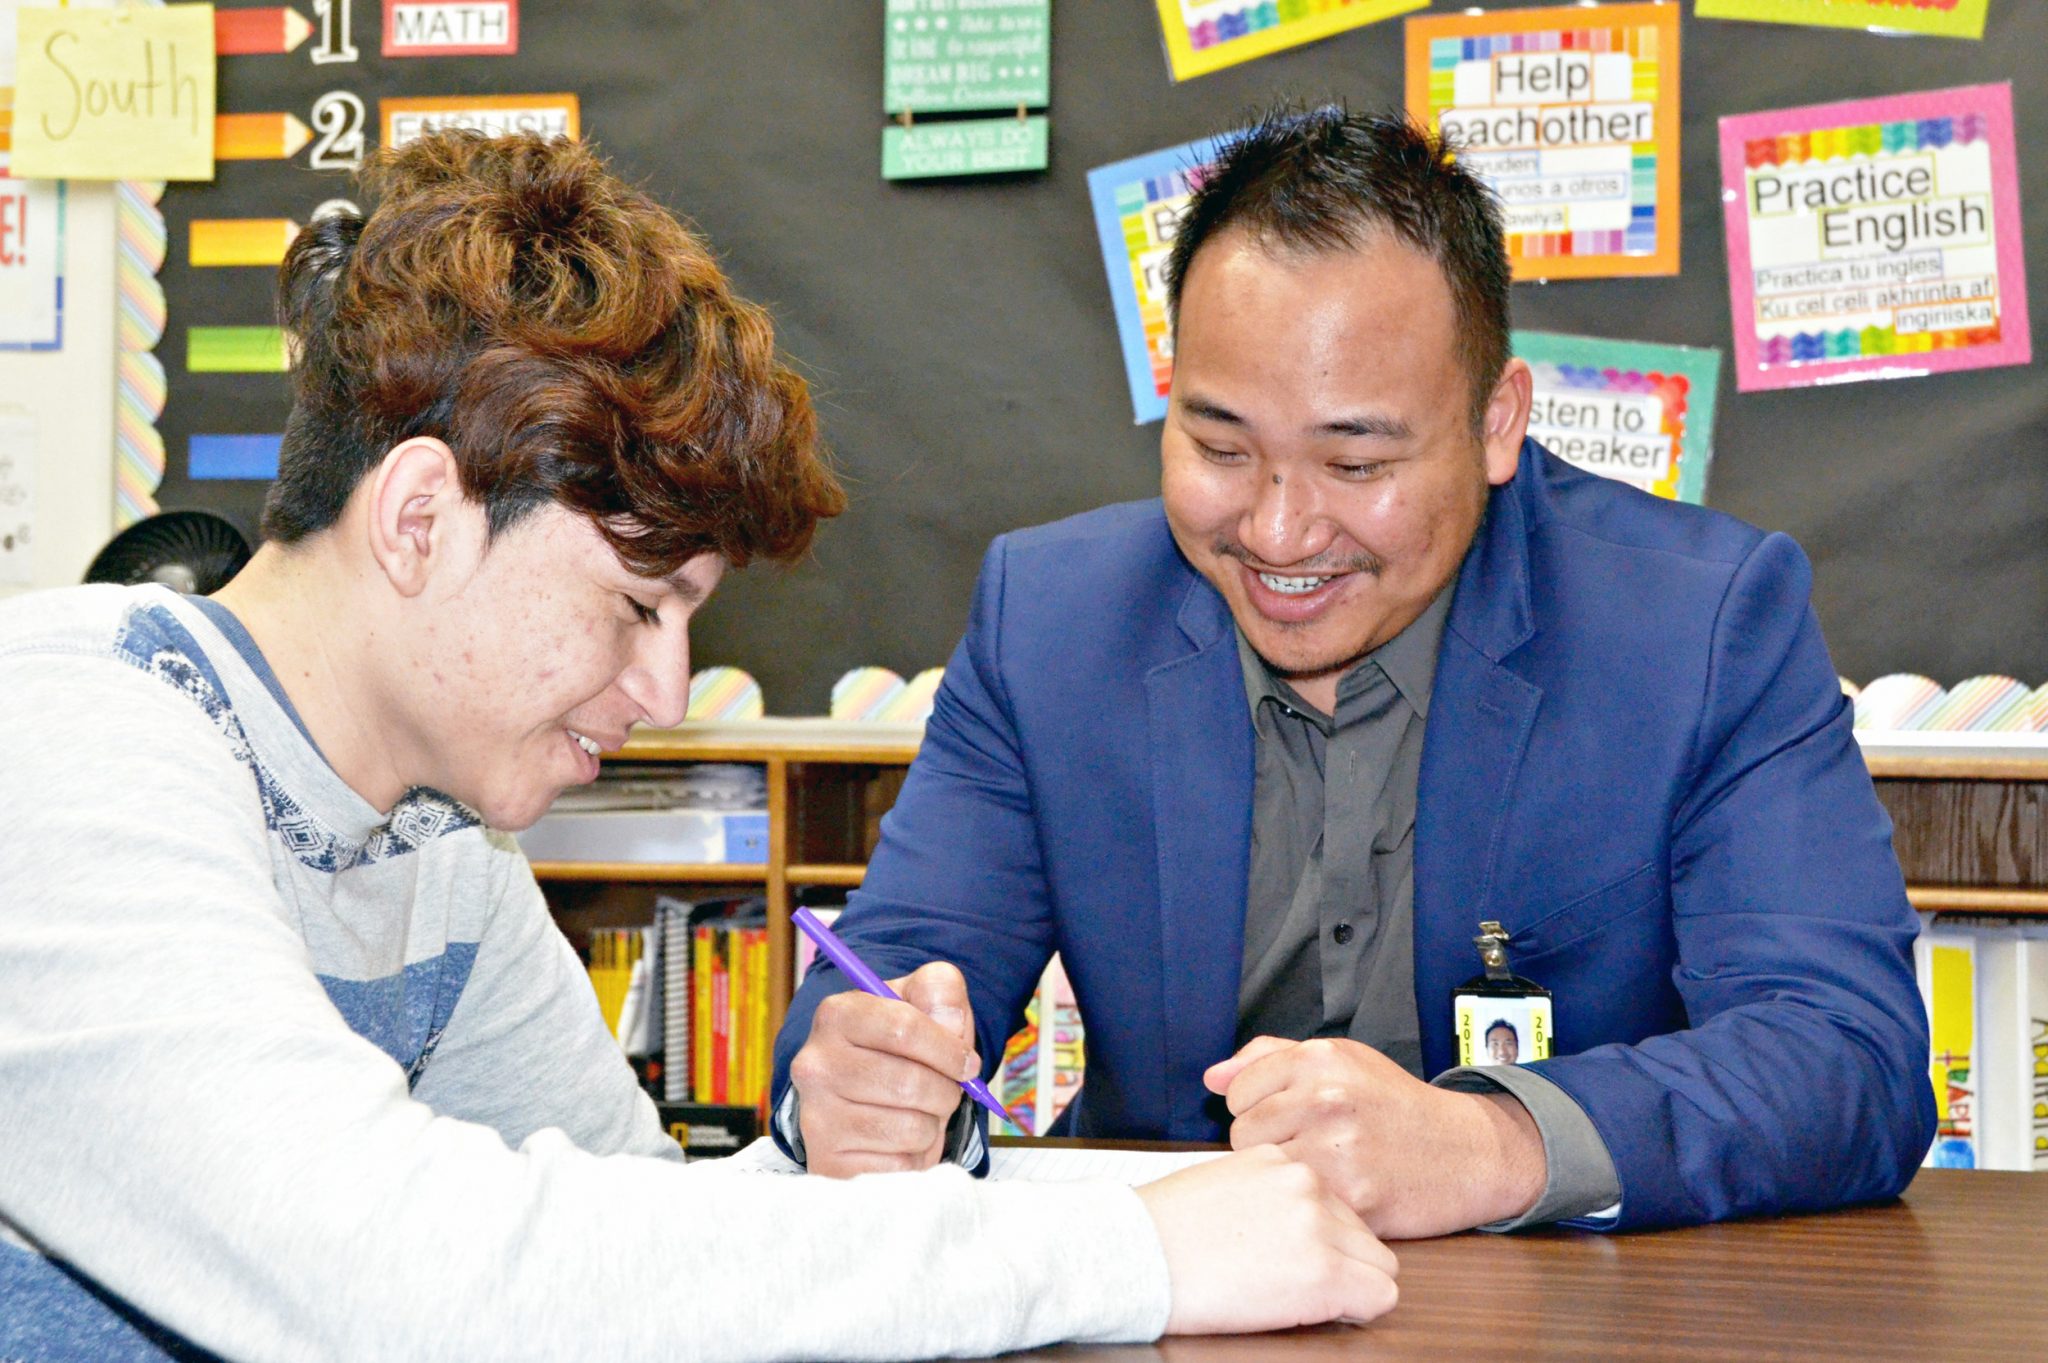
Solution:
{"label": "blue suit jacket worn by the smiling man", "polygon": [[[1622,1226],[1892,1195],[1933,1138],[1917,929],[1782,534],[1581,475],[1493,489],[1438,657],[1415,812],[1430,1072],[1481,919],[1554,995],[1532,1068],[1593,1119]],[[1083,1136],[1217,1140],[1253,735],[1229,608],[1157,501],[995,540],[924,747],[840,921],[885,978],[967,974],[995,1064],[1061,952]],[[776,1044],[774,1093],[821,968]]]}

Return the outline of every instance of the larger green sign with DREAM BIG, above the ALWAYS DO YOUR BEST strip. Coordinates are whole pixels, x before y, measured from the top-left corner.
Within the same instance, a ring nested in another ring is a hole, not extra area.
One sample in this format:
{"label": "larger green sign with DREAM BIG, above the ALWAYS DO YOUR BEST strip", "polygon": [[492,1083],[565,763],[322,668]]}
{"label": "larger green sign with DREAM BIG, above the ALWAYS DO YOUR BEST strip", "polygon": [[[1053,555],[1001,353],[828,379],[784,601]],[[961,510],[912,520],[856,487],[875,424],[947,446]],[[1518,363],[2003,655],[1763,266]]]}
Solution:
{"label": "larger green sign with DREAM BIG, above the ALWAYS DO YOUR BEST strip", "polygon": [[1042,108],[1053,0],[889,0],[883,113]]}

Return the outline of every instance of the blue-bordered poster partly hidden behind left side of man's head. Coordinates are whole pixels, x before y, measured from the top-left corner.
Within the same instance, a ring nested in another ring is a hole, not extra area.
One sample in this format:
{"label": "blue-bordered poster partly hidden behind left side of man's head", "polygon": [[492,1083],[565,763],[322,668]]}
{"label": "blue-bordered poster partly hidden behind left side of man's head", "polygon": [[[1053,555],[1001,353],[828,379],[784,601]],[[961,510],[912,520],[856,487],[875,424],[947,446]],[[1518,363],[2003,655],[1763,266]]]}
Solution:
{"label": "blue-bordered poster partly hidden behind left side of man's head", "polygon": [[1124,350],[1133,422],[1165,417],[1174,385],[1174,327],[1165,307],[1165,262],[1174,252],[1180,213],[1217,158],[1221,137],[1202,137],[1165,151],[1135,156],[1087,172],[1102,266]]}

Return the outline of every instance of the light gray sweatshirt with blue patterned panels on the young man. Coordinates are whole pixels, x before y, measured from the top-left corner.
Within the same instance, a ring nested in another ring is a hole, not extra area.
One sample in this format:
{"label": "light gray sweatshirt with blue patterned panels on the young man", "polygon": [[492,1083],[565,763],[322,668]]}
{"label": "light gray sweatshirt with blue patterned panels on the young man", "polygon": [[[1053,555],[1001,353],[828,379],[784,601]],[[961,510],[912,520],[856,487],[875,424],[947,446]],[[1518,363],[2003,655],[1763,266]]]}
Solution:
{"label": "light gray sweatshirt with blue patterned panels on the young man", "polygon": [[516,845],[319,757],[231,616],[0,602],[0,1359],[1141,1340],[1128,1189],[684,1167]]}

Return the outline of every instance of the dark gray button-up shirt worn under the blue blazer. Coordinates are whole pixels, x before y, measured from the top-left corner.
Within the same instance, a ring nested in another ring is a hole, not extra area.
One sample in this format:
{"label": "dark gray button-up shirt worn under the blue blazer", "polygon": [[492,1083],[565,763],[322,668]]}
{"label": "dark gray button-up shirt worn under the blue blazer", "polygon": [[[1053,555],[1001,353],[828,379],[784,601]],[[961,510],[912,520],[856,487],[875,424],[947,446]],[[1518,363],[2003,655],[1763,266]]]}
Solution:
{"label": "dark gray button-up shirt worn under the blue blazer", "polygon": [[[1303,700],[1237,634],[1255,733],[1239,1046],[1255,1036],[1341,1036],[1423,1076],[1415,798],[1450,596],[1450,587],[1440,591],[1413,624],[1337,679],[1335,714]],[[1542,1136],[1548,1185],[1526,1216],[1495,1230],[1599,1216],[1620,1201],[1597,1128],[1548,1079],[1520,1066],[1470,1066],[1434,1083],[1466,1093],[1505,1089]]]}

